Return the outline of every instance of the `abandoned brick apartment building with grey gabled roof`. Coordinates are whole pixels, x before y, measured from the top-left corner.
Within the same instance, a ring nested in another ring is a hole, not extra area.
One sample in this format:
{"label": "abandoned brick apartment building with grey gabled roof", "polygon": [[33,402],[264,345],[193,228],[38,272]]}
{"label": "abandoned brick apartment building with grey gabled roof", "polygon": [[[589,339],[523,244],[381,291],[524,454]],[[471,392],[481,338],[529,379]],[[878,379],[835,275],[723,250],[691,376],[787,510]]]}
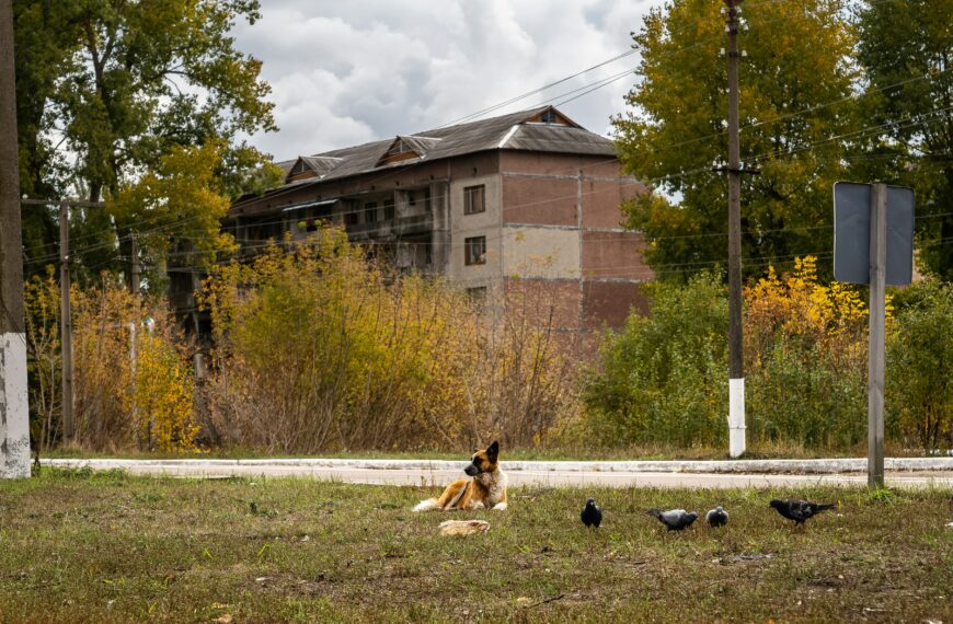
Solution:
{"label": "abandoned brick apartment building with grey gabled roof", "polygon": [[283,186],[228,212],[244,253],[325,220],[401,270],[443,274],[497,309],[524,293],[561,330],[619,326],[645,309],[640,285],[653,276],[619,209],[644,187],[621,175],[612,141],[552,106],[279,165]]}

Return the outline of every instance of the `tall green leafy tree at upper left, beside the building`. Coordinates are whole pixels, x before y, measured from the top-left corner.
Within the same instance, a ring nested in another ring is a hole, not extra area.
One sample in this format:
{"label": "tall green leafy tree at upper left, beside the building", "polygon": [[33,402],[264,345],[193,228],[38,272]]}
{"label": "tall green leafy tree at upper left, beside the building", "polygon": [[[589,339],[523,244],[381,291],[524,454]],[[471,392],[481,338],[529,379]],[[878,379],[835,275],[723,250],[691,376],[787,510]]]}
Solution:
{"label": "tall green leafy tree at upper left, beside the building", "polygon": [[[162,232],[160,247],[194,233],[194,227],[168,223],[154,212],[154,201],[130,199],[154,193],[149,174],[168,169],[168,159],[183,153],[176,150],[216,145],[194,153],[216,158],[215,182],[204,188],[226,200],[240,192],[245,172],[265,160],[242,137],[275,129],[269,88],[259,78],[261,62],[236,49],[230,35],[237,21],[259,19],[256,0],[14,4],[24,189],[49,196],[71,188],[92,200],[126,194],[108,213],[77,211],[71,227],[88,239],[77,245],[80,264],[115,266],[118,255],[128,255],[136,231]],[[131,192],[140,180],[149,188]],[[220,216],[200,220],[209,226],[203,232],[209,239],[218,240]],[[31,219],[36,223],[28,232],[39,239],[50,233],[50,213]],[[117,236],[118,251],[108,244]]]}

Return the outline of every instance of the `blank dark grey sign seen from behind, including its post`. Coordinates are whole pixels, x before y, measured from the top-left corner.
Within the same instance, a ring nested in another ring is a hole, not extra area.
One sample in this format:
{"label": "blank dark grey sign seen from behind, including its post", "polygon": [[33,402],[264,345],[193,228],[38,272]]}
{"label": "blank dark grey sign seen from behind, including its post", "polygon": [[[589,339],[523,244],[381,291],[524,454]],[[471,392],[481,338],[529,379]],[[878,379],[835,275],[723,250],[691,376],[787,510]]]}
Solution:
{"label": "blank dark grey sign seen from behind, including its post", "polygon": [[914,190],[886,184],[834,185],[834,278],[870,285],[868,486],[884,486],[886,286],[914,273]]}

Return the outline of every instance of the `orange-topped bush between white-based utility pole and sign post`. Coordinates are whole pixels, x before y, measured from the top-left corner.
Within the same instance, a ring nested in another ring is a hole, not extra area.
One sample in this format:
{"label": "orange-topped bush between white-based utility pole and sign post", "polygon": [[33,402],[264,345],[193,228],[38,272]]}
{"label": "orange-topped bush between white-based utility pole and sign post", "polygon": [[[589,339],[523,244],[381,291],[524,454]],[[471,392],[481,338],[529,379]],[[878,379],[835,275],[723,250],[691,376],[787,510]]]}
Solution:
{"label": "orange-topped bush between white-based utility pole and sign post", "polygon": [[753,441],[848,448],[866,431],[866,304],[817,279],[816,261],[745,289],[747,426]]}

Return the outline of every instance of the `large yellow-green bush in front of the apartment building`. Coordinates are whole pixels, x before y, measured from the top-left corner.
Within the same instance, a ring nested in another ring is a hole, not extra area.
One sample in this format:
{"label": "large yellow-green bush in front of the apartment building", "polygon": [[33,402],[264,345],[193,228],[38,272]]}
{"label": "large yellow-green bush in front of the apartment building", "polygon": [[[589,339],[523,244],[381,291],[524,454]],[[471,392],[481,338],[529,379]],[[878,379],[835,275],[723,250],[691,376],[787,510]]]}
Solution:
{"label": "large yellow-green bush in front of the apartment building", "polygon": [[330,227],[220,266],[203,296],[210,436],[279,452],[541,442],[574,385],[552,327],[523,312],[540,294],[482,310],[440,279],[393,275]]}

